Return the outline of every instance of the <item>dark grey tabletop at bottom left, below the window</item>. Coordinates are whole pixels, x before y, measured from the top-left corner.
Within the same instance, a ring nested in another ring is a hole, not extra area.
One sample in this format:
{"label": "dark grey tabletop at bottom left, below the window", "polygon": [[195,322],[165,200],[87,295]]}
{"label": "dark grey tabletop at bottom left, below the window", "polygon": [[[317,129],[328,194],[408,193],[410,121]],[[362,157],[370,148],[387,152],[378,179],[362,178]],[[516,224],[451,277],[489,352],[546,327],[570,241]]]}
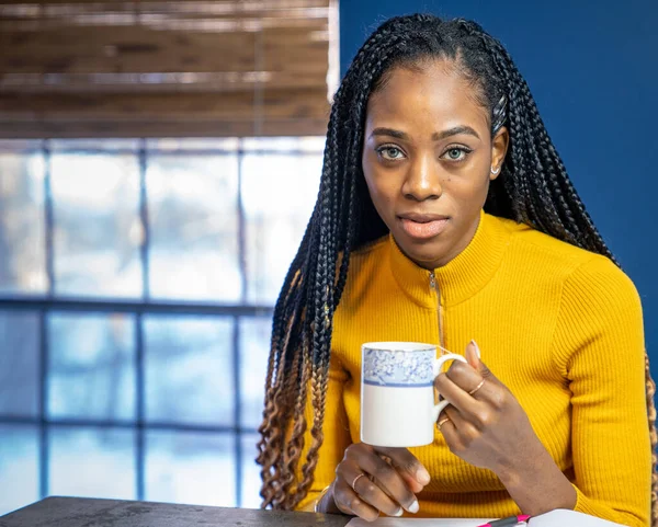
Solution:
{"label": "dark grey tabletop at bottom left, below the window", "polygon": [[0,517],[0,527],[344,527],[350,519],[330,514],[46,497]]}

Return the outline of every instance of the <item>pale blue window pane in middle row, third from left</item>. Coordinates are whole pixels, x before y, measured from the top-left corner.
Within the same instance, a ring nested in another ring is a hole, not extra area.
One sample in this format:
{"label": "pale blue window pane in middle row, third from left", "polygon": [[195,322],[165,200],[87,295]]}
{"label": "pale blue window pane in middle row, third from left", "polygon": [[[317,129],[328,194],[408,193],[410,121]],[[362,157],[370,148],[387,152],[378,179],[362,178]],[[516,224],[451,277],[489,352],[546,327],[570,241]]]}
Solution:
{"label": "pale blue window pane in middle row, third from left", "polygon": [[232,425],[232,321],[151,316],[145,332],[147,419]]}

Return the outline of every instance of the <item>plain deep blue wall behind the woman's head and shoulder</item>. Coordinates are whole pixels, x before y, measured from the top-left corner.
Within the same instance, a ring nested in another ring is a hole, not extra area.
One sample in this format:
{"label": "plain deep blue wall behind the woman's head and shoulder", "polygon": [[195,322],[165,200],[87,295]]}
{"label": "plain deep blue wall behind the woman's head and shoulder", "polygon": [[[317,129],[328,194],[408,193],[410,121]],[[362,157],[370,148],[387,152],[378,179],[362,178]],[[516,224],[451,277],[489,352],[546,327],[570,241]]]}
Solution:
{"label": "plain deep blue wall behind the woman's head and shoulder", "polygon": [[576,188],[637,286],[657,378],[658,2],[342,0],[341,72],[378,23],[417,11],[473,19],[514,58]]}

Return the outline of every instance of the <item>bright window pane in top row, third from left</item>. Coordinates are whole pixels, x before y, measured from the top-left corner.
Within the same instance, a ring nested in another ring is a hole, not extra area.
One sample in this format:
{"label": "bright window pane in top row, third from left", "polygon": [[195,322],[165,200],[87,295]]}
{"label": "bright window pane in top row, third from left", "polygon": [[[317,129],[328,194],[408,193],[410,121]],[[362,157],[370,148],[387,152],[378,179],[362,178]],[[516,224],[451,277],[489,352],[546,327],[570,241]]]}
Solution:
{"label": "bright window pane in top row, third from left", "polygon": [[235,302],[238,257],[237,157],[149,157],[150,294]]}

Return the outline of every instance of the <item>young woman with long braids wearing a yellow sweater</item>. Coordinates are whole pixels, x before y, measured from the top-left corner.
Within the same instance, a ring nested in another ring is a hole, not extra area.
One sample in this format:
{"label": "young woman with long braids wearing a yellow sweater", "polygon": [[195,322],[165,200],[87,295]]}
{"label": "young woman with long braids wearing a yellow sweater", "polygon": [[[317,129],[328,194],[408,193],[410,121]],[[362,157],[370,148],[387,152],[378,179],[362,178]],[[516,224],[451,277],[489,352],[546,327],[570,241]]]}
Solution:
{"label": "young woman with long braids wearing a yellow sweater", "polygon": [[[370,341],[465,352],[432,445],[359,443]],[[385,22],[336,94],[276,303],[263,506],[646,526],[654,388],[635,287],[508,53],[473,22]]]}

